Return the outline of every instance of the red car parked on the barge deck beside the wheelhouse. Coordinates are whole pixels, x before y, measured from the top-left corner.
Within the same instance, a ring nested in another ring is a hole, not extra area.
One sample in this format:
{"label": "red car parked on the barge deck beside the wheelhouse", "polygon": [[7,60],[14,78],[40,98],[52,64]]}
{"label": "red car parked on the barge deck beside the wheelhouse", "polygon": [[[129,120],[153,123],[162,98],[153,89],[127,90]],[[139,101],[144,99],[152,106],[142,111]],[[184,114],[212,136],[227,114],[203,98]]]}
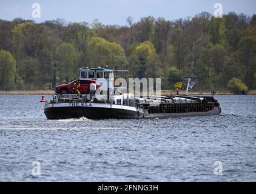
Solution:
{"label": "red car parked on the barge deck beside the wheelhouse", "polygon": [[79,92],[81,92],[81,94],[89,93],[90,84],[92,83],[96,84],[96,89],[98,89],[101,86],[94,79],[75,79],[69,84],[57,85],[55,87],[55,93],[60,93],[62,95],[76,93],[76,85],[78,84],[78,81],[80,84]]}

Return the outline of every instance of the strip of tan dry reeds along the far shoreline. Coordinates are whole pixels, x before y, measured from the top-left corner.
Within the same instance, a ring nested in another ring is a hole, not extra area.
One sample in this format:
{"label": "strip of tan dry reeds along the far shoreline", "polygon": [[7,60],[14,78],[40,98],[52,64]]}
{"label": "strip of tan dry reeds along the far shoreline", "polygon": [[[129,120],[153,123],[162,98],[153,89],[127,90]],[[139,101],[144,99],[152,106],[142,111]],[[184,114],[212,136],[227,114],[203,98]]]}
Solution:
{"label": "strip of tan dry reeds along the far shoreline", "polygon": [[[54,90],[0,90],[0,95],[53,95]],[[176,95],[174,90],[163,90],[161,95]],[[185,95],[185,92],[181,91],[179,95]],[[190,95],[211,95],[206,92],[192,92]],[[234,95],[231,92],[216,92],[214,95]],[[247,95],[256,95],[256,90],[251,90]]]}

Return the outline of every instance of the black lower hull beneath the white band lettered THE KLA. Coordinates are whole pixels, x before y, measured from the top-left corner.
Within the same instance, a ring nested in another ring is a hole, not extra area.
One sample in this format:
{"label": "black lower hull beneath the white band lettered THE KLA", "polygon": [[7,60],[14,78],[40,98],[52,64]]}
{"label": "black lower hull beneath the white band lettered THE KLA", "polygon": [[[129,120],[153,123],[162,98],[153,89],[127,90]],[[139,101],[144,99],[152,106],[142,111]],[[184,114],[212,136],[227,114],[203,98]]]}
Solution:
{"label": "black lower hull beneath the white band lettered THE KLA", "polygon": [[132,110],[106,109],[101,107],[50,107],[44,109],[47,119],[136,119],[140,113]]}

